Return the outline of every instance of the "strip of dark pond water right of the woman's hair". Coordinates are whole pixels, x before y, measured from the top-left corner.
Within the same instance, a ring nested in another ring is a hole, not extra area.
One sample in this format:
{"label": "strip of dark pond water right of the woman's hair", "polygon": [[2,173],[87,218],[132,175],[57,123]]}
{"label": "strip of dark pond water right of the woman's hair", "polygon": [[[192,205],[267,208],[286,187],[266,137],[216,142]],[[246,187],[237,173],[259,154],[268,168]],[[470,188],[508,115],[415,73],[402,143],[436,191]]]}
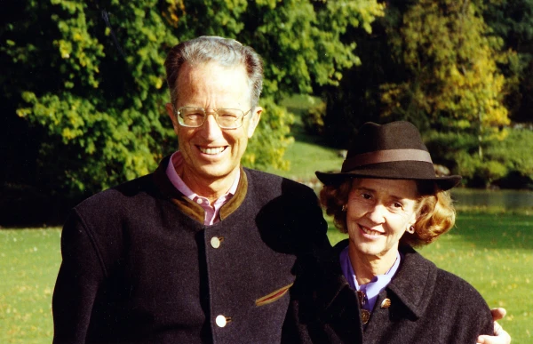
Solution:
{"label": "strip of dark pond water right of the woman's hair", "polygon": [[505,210],[533,208],[533,191],[454,188],[451,195],[457,207],[479,206]]}

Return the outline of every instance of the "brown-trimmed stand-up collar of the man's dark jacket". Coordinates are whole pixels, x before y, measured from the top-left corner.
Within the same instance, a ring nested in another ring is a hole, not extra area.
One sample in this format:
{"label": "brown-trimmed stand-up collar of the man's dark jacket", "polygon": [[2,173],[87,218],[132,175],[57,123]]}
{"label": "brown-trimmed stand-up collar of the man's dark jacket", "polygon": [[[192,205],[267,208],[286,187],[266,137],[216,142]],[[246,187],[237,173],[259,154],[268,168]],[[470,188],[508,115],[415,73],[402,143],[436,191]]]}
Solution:
{"label": "brown-trimmed stand-up collar of the man's dark jacket", "polygon": [[[171,183],[171,180],[166,175],[166,168],[169,164],[171,156],[165,156],[157,169],[154,172],[154,181],[156,187],[162,193],[163,196],[169,198],[173,204],[175,204],[180,212],[185,213],[188,217],[203,223],[204,211],[202,206],[195,204],[187,196],[179,192],[178,189],[174,188]],[[222,205],[220,208],[220,220],[226,219],[229,215],[235,212],[241,204],[243,204],[244,198],[248,191],[248,177],[241,168],[241,178],[239,179],[239,184],[237,185],[237,190],[235,195],[227,201],[227,204]]]}

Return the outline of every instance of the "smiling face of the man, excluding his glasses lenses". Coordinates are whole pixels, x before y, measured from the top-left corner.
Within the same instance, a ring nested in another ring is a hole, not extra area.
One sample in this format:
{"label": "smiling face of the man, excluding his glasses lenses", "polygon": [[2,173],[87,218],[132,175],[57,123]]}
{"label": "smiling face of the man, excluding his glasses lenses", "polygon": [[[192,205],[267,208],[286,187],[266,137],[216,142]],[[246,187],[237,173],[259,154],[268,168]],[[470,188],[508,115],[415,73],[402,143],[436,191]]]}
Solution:
{"label": "smiling face of the man, excluding his glasses lenses", "polygon": [[[205,108],[208,115],[213,114],[212,108],[238,108],[243,112],[251,108],[251,89],[243,66],[227,68],[216,62],[185,63],[179,70],[177,84],[179,94],[175,108]],[[221,129],[214,116],[207,116],[198,128],[184,127],[179,125],[171,104],[166,108],[178,135],[187,179],[235,178],[262,108],[251,108],[244,117],[243,126],[236,129]]]}

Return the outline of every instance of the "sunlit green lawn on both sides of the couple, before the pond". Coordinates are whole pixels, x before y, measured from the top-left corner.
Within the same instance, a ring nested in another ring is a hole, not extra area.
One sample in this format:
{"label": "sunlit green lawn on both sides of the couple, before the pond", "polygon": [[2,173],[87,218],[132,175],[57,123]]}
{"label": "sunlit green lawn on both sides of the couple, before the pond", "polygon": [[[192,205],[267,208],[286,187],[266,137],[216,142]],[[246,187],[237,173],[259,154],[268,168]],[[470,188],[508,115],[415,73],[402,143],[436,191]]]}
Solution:
{"label": "sunlit green lawn on both sides of the couple, before the pond", "polygon": [[[331,225],[329,236],[332,244],[346,237]],[[0,342],[51,342],[60,229],[3,229],[0,245]],[[421,252],[473,284],[490,307],[505,307],[513,343],[533,340],[532,216],[460,213],[457,228]]]}

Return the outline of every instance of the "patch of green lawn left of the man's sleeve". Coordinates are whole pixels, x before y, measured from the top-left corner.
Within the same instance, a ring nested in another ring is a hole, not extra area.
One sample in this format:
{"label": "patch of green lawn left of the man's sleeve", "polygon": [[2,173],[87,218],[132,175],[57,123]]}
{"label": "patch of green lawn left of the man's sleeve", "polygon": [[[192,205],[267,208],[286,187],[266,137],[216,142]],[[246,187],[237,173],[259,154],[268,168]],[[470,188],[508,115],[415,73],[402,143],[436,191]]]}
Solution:
{"label": "patch of green lawn left of the man's sleeve", "polygon": [[3,229],[0,247],[0,342],[52,342],[60,229]]}

